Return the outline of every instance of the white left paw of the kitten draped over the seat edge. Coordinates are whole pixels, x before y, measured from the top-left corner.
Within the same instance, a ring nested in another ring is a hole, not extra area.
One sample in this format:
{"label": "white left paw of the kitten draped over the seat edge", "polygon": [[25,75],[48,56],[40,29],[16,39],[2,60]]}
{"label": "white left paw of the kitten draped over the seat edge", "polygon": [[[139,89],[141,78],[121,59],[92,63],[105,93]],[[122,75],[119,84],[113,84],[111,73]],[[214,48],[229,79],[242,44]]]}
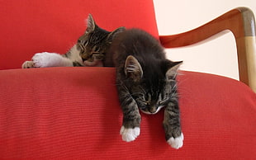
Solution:
{"label": "white left paw of the kitten draped over the seat edge", "polygon": [[126,129],[124,126],[121,126],[120,134],[122,135],[123,141],[133,141],[140,135],[140,127],[135,127],[134,129]]}

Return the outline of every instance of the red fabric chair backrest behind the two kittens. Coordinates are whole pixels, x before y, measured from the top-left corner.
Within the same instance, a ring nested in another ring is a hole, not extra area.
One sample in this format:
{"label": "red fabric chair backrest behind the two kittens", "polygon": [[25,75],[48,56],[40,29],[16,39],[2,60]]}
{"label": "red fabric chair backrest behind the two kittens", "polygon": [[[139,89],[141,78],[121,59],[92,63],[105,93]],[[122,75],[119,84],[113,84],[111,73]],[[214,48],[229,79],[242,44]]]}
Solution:
{"label": "red fabric chair backrest behind the two kittens", "polygon": [[0,5],[0,69],[21,68],[38,52],[64,54],[92,13],[107,31],[137,27],[158,37],[151,0],[8,0]]}

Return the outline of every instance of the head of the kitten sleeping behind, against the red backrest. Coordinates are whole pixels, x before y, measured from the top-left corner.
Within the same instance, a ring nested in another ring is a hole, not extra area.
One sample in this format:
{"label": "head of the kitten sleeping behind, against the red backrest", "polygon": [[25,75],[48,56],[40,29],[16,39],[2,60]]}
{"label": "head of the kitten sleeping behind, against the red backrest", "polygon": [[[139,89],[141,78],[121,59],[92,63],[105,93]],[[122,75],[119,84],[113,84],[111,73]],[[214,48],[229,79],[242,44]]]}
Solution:
{"label": "head of the kitten sleeping behind, against the red backrest", "polygon": [[111,32],[103,30],[96,25],[92,15],[89,14],[87,29],[77,42],[83,63],[87,66],[96,66],[101,62],[114,37],[122,31],[125,31],[125,27],[119,27]]}

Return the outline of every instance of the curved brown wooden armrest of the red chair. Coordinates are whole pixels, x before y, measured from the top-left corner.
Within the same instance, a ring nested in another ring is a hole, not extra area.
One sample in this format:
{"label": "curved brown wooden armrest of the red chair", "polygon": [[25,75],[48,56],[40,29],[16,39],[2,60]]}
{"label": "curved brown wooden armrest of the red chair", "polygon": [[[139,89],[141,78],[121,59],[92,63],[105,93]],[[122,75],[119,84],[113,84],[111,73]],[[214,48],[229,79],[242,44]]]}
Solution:
{"label": "curved brown wooden armrest of the red chair", "polygon": [[222,31],[231,31],[235,36],[239,80],[256,92],[256,29],[254,13],[249,8],[235,8],[192,31],[178,35],[160,35],[159,39],[166,48],[183,47],[206,40]]}

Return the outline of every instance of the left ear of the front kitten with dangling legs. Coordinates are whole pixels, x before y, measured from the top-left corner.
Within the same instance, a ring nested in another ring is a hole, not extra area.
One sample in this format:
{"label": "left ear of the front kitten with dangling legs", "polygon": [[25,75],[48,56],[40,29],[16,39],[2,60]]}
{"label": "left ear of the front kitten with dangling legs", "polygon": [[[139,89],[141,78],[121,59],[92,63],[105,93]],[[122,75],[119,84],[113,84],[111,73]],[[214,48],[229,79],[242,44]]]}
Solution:
{"label": "left ear of the front kitten with dangling legs", "polygon": [[143,76],[143,70],[140,63],[132,55],[129,55],[126,58],[125,73],[126,76],[131,78],[134,82],[140,82],[140,79]]}

